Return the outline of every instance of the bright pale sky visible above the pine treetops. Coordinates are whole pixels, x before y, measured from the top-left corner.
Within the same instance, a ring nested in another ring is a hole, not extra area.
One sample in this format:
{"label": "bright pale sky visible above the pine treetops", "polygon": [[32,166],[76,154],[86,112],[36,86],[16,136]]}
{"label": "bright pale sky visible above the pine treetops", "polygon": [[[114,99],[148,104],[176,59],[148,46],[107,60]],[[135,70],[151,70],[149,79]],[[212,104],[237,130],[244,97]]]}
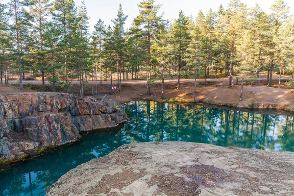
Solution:
{"label": "bright pale sky visible above the pine treetops", "polygon": [[[0,0],[1,1],[1,0]],[[2,3],[9,0],[2,0]],[[132,24],[132,20],[139,15],[138,4],[141,0],[84,0],[87,6],[88,16],[90,17],[89,26],[90,32],[94,30],[94,25],[99,18],[104,21],[105,25],[113,25],[111,20],[116,18],[119,4],[122,3],[123,12],[128,15],[125,23],[125,28]],[[164,12],[164,19],[173,20],[178,17],[178,14],[183,10],[186,16],[193,15],[196,17],[199,10],[204,14],[210,8],[213,11],[218,11],[219,5],[222,4],[224,8],[230,0],[156,0],[156,4],[162,4],[159,13]],[[270,13],[270,5],[274,0],[241,0],[247,7],[253,7],[257,3],[264,11]],[[79,6],[82,0],[74,0],[75,5]],[[294,0],[284,0],[290,7],[290,14],[294,15]]]}

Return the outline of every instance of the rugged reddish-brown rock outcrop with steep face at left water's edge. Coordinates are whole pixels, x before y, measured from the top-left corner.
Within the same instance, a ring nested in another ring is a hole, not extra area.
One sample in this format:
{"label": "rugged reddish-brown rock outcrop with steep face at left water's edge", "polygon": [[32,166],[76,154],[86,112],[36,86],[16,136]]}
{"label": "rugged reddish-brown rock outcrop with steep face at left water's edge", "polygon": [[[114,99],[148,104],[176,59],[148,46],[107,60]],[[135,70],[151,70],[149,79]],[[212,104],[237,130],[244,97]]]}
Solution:
{"label": "rugged reddish-brown rock outcrop with steep face at left water's edge", "polygon": [[0,96],[0,158],[74,142],[80,131],[117,126],[124,115],[103,101],[65,93]]}

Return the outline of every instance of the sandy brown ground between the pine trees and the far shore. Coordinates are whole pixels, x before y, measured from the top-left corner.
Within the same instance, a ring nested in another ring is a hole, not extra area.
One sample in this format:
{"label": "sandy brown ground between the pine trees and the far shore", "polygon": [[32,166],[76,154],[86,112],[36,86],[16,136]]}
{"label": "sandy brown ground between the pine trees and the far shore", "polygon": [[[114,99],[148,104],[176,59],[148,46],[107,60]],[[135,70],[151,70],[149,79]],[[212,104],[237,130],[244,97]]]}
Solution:
{"label": "sandy brown ground between the pine trees and the far shore", "polygon": [[[234,85],[232,88],[227,88],[227,78],[215,78],[207,79],[208,82],[215,82],[217,84],[224,84],[224,87],[200,85],[199,82],[203,82],[204,79],[197,79],[196,85],[196,101],[206,103],[264,103],[264,104],[278,104],[281,107],[294,105],[294,89],[290,89],[286,86],[282,88],[277,87],[277,80],[279,76],[273,75],[273,87],[263,86],[266,81],[266,75],[262,74],[261,80],[259,81],[260,86],[244,86],[243,99],[240,101],[240,85]],[[289,80],[291,76],[282,76],[282,79]],[[14,83],[16,81],[11,81]],[[235,80],[234,80],[235,82]],[[24,84],[30,83],[31,88],[40,90],[41,81],[24,81]],[[48,83],[48,82],[46,82]],[[113,81],[113,85],[117,85],[117,81]],[[110,81],[88,81],[87,88],[85,89],[85,96],[91,96],[92,91],[96,94],[96,88],[99,95],[107,94],[110,98],[118,102],[127,102],[132,100],[161,100],[161,84],[155,83],[151,85],[151,96],[147,96],[147,85],[145,80],[125,80],[122,81],[122,92],[117,92],[115,95],[109,94]],[[51,90],[51,87],[47,85],[47,91]],[[70,88],[73,93],[79,96],[79,86]],[[58,92],[65,92],[64,89],[57,89]],[[13,95],[19,93],[31,92],[31,90],[21,91],[17,87],[5,87],[0,85],[0,95]],[[181,79],[180,89],[177,89],[177,80],[166,80],[165,82],[165,99],[176,99],[182,102],[191,102],[194,100],[194,79]]]}

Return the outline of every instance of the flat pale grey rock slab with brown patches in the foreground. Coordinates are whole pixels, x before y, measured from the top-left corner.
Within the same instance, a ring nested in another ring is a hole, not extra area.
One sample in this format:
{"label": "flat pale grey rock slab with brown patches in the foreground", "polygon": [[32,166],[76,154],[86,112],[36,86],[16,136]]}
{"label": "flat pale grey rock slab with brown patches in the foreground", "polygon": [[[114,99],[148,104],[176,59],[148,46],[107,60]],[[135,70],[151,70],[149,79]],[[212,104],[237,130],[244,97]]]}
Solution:
{"label": "flat pale grey rock slab with brown patches in the foreground", "polygon": [[293,196],[294,153],[165,142],[120,147],[63,175],[47,196]]}

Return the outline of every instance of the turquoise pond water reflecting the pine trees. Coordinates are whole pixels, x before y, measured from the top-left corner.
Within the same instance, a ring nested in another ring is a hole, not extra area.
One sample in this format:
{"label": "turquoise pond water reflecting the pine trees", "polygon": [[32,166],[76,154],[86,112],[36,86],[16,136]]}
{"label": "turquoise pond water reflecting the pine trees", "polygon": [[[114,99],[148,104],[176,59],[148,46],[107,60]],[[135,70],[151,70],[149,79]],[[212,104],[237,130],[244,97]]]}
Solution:
{"label": "turquoise pond water reflecting the pine trees", "polygon": [[44,196],[64,173],[127,143],[172,140],[294,151],[294,115],[290,113],[153,101],[128,103],[125,111],[129,121],[123,126],[84,134],[77,143],[4,168],[0,196]]}

